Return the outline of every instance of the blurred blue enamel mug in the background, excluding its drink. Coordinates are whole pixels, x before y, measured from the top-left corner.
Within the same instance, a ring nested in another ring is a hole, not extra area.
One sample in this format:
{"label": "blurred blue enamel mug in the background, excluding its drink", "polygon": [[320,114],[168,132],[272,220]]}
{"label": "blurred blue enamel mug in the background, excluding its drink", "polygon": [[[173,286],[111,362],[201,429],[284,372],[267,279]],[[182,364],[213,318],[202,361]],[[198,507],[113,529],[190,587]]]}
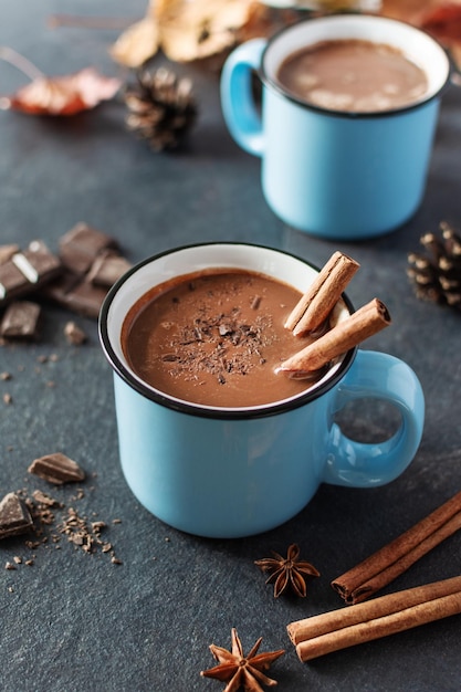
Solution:
{"label": "blurred blue enamel mug in the background, excluding its drink", "polygon": [[[426,73],[426,93],[407,107],[362,114],[290,95],[277,80],[282,62],[342,39],[395,46]],[[261,111],[253,71],[262,81]],[[363,240],[398,228],[418,209],[449,77],[446,52],[422,31],[383,17],[334,14],[237,48],[222,71],[221,104],[234,140],[261,157],[263,195],[280,219],[321,238]]]}

